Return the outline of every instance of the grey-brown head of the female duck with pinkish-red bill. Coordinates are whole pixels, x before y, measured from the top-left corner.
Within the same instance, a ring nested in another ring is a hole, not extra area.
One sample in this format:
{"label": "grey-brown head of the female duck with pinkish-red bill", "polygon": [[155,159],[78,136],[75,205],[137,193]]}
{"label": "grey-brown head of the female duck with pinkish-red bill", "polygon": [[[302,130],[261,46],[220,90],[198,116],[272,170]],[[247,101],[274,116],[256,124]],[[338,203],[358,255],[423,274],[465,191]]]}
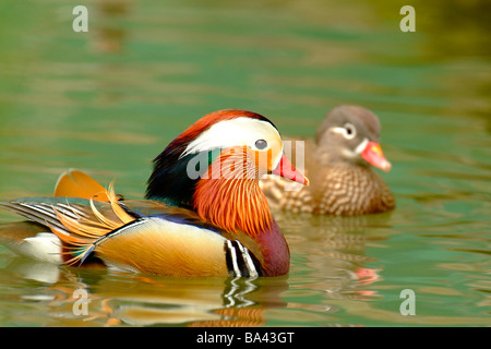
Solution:
{"label": "grey-brown head of the female duck with pinkish-red bill", "polygon": [[358,106],[338,106],[331,110],[318,129],[318,149],[328,163],[369,164],[388,171],[388,163],[380,147],[379,118]]}

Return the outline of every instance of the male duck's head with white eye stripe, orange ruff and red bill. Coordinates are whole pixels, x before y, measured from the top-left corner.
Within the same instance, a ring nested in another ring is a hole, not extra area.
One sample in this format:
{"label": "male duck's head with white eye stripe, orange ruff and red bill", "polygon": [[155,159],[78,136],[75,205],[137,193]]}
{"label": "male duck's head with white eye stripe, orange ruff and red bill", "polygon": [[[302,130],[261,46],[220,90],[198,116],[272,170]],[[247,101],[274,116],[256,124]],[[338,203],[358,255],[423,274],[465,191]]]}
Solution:
{"label": "male duck's head with white eye stripe, orange ruff and red bill", "polygon": [[275,173],[307,184],[265,117],[227,109],[204,116],[154,160],[147,198],[195,210],[228,231],[253,233],[272,220],[259,179]]}

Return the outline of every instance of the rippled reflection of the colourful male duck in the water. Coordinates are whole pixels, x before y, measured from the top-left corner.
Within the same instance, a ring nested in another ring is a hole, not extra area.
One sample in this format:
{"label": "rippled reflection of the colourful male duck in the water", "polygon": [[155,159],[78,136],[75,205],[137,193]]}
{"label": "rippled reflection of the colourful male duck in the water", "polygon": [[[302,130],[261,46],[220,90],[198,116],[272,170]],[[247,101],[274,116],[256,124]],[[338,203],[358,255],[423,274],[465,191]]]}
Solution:
{"label": "rippled reflection of the colourful male duck in the water", "polygon": [[[263,313],[286,306],[287,277],[177,278],[59,267],[15,256],[5,268],[15,279],[39,282],[14,301],[41,302],[47,326],[260,326]],[[86,299],[82,299],[83,294]],[[87,302],[86,314],[77,311]],[[34,316],[31,314],[29,316]]]}

